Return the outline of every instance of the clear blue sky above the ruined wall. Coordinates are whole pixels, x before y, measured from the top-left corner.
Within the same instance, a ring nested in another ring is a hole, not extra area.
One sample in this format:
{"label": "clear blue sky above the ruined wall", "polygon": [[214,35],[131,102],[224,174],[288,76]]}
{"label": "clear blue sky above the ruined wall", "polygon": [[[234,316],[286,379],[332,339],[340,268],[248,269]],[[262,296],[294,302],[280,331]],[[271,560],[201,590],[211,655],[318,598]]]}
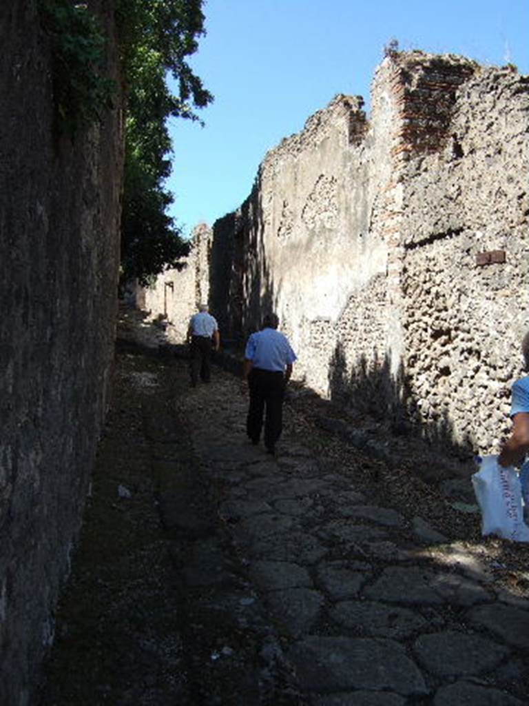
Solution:
{"label": "clear blue sky above the ruined wall", "polygon": [[170,214],[188,235],[250,193],[265,152],[336,93],[363,95],[384,44],[529,73],[529,0],[208,0],[190,64],[214,96],[201,128],[171,120]]}

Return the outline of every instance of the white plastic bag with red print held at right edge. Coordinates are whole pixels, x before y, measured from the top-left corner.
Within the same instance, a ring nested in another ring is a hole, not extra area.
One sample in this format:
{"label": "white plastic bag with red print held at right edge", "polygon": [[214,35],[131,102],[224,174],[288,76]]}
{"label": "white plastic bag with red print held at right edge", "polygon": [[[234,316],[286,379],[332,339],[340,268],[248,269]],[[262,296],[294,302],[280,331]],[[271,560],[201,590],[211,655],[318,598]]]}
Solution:
{"label": "white plastic bag with red print held at right edge", "polygon": [[481,534],[497,534],[513,542],[529,542],[523,522],[520,479],[512,467],[504,468],[497,456],[485,456],[472,484],[481,508]]}

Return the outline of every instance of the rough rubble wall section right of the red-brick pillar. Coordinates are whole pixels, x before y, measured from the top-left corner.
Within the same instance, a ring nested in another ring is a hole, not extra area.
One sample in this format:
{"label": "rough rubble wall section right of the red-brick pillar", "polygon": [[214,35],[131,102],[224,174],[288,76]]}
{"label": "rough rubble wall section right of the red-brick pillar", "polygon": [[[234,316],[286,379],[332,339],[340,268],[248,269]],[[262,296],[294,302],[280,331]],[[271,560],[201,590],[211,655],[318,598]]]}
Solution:
{"label": "rough rubble wall section right of the red-brick pillar", "polygon": [[[529,324],[529,82],[472,68],[450,89],[442,140],[414,148],[404,172],[403,365],[413,417],[487,449],[506,426]],[[505,256],[479,264],[490,251]]]}

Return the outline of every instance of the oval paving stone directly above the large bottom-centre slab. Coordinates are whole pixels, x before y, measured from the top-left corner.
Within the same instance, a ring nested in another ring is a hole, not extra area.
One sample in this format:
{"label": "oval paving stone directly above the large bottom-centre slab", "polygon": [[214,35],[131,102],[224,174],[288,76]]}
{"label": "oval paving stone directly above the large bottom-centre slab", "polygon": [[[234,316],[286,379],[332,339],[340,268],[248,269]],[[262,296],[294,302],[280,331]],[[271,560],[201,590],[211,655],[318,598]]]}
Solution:
{"label": "oval paving stone directly above the large bottom-centre slab", "polygon": [[339,625],[358,629],[373,638],[401,640],[427,626],[420,614],[408,608],[367,601],[343,601],[329,615]]}

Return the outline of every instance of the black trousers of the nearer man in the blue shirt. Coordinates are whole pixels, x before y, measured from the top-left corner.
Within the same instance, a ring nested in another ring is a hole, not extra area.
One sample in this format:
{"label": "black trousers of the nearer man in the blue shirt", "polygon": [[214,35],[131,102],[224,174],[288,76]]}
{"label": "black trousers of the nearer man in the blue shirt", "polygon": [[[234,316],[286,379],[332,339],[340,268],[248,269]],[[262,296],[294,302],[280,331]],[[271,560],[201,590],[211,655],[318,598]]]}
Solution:
{"label": "black trousers of the nearer man in the blue shirt", "polygon": [[246,433],[257,443],[265,414],[265,446],[273,449],[283,429],[284,375],[254,368],[248,376],[248,386],[250,408],[246,418]]}

